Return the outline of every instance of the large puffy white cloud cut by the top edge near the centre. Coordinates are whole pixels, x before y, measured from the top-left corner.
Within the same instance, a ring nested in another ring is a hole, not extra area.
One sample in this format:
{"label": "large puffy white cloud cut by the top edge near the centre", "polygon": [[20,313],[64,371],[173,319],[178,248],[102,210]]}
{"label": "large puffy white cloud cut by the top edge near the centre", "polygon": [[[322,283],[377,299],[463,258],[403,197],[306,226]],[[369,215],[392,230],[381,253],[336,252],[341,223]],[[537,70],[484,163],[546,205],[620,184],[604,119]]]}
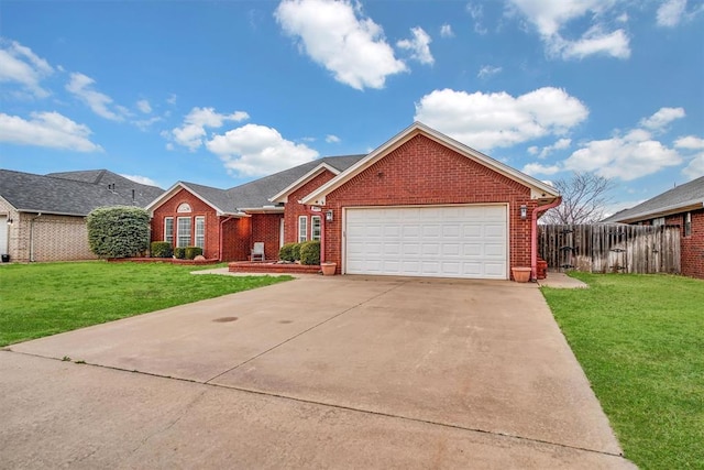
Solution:
{"label": "large puffy white cloud cut by the top edge near the centre", "polygon": [[349,0],[284,0],[274,15],[284,32],[334,78],[352,88],[383,88],[386,77],[407,72],[384,32]]}

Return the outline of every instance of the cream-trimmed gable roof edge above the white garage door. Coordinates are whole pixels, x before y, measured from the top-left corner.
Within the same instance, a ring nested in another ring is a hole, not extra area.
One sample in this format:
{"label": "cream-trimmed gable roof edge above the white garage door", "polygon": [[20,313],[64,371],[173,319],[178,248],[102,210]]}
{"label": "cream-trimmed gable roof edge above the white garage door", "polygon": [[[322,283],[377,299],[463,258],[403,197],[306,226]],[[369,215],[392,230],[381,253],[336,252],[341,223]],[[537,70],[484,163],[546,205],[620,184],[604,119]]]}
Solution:
{"label": "cream-trimmed gable roof edge above the white garage door", "polygon": [[559,197],[558,190],[542,183],[531,176],[526,175],[525,173],[519,172],[516,168],[512,168],[510,166],[492,159],[474,149],[471,149],[463,143],[455,141],[454,139],[444,135],[435,129],[429,128],[422,122],[414,122],[410,127],[406,128],[389,141],[385,142],[372,153],[366,155],[364,159],[361,159],[355,164],[351,165],[344,172],[320,186],[318,189],[304,197],[301,200],[302,204],[315,204],[315,205],[324,205],[326,196],[332,193],[334,189],[339,188],[350,179],[352,179],[358,174],[362,173],[364,170],[369,168],[384,156],[389,154],[392,151],[398,149],[400,145],[410,141],[413,138],[417,135],[424,135],[428,139],[431,139],[461,155],[466,156],[510,179],[514,179],[524,186],[530,188],[530,194],[534,199],[544,199],[544,200],[554,200]]}

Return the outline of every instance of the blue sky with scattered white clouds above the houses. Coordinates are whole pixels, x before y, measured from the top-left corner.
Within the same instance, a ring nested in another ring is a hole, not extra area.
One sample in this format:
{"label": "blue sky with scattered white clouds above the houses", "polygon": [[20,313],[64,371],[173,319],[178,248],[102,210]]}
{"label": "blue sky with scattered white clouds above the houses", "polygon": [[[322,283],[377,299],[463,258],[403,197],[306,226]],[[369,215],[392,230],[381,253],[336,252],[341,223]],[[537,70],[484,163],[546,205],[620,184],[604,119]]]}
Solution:
{"label": "blue sky with scattered white clouds above the houses", "polygon": [[415,120],[632,206],[704,174],[704,1],[0,3],[7,170],[227,188]]}

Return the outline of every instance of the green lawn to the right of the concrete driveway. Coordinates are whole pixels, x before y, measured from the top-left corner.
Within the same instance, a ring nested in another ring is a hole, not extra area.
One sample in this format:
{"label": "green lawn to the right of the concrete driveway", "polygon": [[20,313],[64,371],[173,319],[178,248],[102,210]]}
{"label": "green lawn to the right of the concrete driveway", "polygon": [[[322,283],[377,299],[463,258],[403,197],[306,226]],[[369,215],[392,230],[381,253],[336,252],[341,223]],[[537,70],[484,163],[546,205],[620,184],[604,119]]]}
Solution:
{"label": "green lawn to the right of the concrete driveway", "polygon": [[704,468],[704,281],[573,275],[590,288],[542,292],[626,457]]}

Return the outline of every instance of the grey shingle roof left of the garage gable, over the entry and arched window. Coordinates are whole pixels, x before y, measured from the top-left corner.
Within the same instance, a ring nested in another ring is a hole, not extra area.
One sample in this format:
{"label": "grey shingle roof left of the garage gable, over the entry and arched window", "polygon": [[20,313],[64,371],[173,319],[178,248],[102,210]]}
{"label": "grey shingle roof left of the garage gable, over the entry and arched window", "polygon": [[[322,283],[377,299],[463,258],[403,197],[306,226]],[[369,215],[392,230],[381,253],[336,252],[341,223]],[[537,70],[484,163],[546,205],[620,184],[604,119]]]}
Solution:
{"label": "grey shingle roof left of the garage gable, over the entry and arched window", "polygon": [[279,194],[301,177],[306,176],[314,168],[321,164],[329,165],[341,172],[364,155],[341,155],[327,156],[304,163],[293,168],[284,170],[273,175],[264,176],[260,179],[234,186],[229,189],[219,189],[211,186],[198,185],[195,183],[178,182],[164,194],[155,198],[147,206],[147,210],[154,210],[167,199],[173,197],[179,188],[185,188],[194,196],[208,204],[218,211],[218,215],[240,215],[242,211],[264,209],[272,207],[272,196]]}

